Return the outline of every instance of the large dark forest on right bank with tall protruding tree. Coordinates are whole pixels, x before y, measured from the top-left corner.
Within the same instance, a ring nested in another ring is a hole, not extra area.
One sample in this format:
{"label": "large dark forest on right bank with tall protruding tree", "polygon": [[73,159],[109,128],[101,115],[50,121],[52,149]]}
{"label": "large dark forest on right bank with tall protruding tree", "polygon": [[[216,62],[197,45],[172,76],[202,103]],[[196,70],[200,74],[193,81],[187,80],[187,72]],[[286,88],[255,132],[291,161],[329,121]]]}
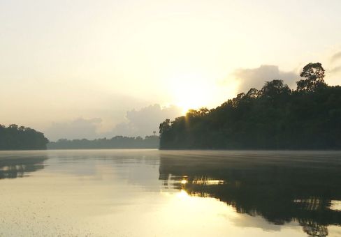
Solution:
{"label": "large dark forest on right bank with tall protruding tree", "polygon": [[280,79],[215,109],[189,110],[160,124],[161,149],[340,149],[341,86],[309,63],[296,90]]}

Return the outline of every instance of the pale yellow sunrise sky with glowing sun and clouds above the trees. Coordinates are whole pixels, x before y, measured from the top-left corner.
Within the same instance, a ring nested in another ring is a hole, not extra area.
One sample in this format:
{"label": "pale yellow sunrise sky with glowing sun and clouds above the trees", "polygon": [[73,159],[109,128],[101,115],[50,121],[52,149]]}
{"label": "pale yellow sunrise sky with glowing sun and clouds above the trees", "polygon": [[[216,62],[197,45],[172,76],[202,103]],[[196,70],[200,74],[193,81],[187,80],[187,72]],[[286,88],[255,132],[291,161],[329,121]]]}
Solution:
{"label": "pale yellow sunrise sky with glowing sun and clouds above the trees", "polygon": [[145,136],[189,108],[321,62],[341,84],[341,1],[0,0],[0,123]]}

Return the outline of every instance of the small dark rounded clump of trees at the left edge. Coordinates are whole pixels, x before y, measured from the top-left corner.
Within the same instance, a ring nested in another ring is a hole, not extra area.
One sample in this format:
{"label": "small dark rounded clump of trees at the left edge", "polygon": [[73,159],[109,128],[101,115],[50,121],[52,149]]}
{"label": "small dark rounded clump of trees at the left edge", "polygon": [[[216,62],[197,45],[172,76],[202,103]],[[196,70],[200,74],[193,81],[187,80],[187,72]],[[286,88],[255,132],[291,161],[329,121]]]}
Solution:
{"label": "small dark rounded clump of trees at the left edge", "polygon": [[0,150],[45,150],[46,144],[42,132],[16,124],[0,125]]}

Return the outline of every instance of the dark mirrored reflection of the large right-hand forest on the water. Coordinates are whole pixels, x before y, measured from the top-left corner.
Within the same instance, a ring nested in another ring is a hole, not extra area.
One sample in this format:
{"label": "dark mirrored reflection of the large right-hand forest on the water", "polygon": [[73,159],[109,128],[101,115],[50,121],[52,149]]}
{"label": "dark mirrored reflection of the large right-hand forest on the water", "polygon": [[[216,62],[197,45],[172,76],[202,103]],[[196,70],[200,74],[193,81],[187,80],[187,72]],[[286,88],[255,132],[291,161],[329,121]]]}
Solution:
{"label": "dark mirrored reflection of the large right-hand forest on the water", "polygon": [[[261,215],[273,224],[297,221],[310,236],[327,236],[341,225],[338,160],[212,158],[163,155],[159,178],[198,197],[215,197],[238,213]],[[239,160],[238,160],[239,159]]]}

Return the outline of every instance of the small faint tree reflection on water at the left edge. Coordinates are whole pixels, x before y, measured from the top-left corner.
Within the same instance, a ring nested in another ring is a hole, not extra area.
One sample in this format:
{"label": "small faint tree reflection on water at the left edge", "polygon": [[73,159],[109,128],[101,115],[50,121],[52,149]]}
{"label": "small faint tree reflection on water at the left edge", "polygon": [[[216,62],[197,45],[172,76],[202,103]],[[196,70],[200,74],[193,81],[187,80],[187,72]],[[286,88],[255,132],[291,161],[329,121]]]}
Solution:
{"label": "small faint tree reflection on water at the left edge", "polygon": [[1,158],[0,179],[21,178],[31,172],[43,169],[43,162],[45,160],[47,160],[45,156],[27,158]]}

